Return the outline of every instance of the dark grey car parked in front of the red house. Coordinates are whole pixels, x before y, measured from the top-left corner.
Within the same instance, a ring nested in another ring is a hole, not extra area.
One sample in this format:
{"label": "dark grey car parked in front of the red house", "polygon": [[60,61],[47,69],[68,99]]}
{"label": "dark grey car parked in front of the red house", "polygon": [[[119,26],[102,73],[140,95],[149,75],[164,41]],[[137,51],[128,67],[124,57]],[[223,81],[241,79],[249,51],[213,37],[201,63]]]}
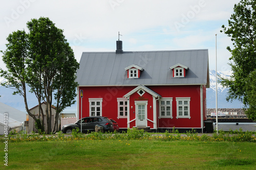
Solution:
{"label": "dark grey car parked in front of the red house", "polygon": [[[88,131],[95,131],[96,125],[102,126],[104,132],[114,131],[113,124],[108,117],[91,116],[82,118],[82,133],[87,133]],[[81,130],[81,119],[74,124],[62,126],[61,132],[71,134],[72,130],[76,128],[79,128],[79,130]]]}

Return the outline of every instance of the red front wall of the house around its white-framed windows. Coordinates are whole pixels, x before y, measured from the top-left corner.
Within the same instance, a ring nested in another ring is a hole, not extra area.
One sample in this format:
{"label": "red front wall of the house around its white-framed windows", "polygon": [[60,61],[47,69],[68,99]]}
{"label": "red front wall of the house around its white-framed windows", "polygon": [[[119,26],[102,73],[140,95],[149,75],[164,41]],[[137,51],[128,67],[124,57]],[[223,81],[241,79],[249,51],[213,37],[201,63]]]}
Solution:
{"label": "red front wall of the house around its white-framed windows", "polygon": [[[102,116],[108,116],[116,120],[120,128],[127,128],[127,119],[118,119],[118,104],[117,98],[122,98],[123,95],[130,92],[137,86],[127,87],[79,87],[83,90],[82,98],[82,117],[89,116],[89,98],[102,98]],[[151,90],[157,92],[162,98],[173,98],[172,113],[173,119],[161,118],[157,120],[157,127],[159,128],[202,128],[201,126],[201,103],[200,103],[200,85],[184,85],[184,86],[147,86]],[[203,115],[205,115],[206,108],[206,88],[203,86]],[[137,99],[140,95],[135,92],[130,96],[130,121],[135,118],[135,103],[134,99]],[[148,98],[147,105],[147,118],[153,120],[153,98],[151,94],[143,94],[144,98]],[[177,104],[176,98],[189,97],[190,98],[190,119],[188,118],[176,118],[177,116]],[[81,98],[78,99],[78,116],[81,115]],[[133,106],[133,109],[131,109]],[[152,106],[152,108],[150,108]],[[157,102],[157,117],[159,117],[159,104]],[[204,117],[203,117],[204,119]],[[205,117],[206,119],[206,117]],[[147,125],[153,128],[153,123],[147,121]],[[136,126],[136,121],[130,123],[130,128]]]}

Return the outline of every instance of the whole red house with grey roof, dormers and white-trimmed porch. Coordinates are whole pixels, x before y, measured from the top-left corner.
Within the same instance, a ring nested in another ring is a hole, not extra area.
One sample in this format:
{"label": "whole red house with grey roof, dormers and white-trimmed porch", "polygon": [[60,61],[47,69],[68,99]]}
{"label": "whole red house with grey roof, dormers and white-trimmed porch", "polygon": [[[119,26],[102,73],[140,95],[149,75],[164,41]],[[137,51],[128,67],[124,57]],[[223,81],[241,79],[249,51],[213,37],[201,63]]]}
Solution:
{"label": "whole red house with grey roof, dormers and white-trimmed porch", "polygon": [[82,117],[108,116],[120,129],[201,132],[208,65],[208,50],[123,52],[117,41],[116,52],[84,52],[76,75],[78,118],[82,108]]}

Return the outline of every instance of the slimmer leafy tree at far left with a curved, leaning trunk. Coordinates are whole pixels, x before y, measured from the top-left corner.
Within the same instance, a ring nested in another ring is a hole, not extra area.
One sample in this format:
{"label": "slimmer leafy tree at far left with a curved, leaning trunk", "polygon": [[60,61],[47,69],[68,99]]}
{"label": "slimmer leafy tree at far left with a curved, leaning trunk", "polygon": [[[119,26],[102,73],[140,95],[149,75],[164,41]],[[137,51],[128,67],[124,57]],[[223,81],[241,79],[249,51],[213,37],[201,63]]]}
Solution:
{"label": "slimmer leafy tree at far left with a curved, leaning trunk", "polygon": [[16,31],[7,37],[7,41],[9,43],[6,44],[6,51],[1,52],[4,54],[3,61],[8,71],[0,69],[1,76],[7,81],[1,85],[15,89],[13,94],[22,95],[28,114],[36,120],[35,115],[29,111],[27,103],[28,35],[25,31]]}

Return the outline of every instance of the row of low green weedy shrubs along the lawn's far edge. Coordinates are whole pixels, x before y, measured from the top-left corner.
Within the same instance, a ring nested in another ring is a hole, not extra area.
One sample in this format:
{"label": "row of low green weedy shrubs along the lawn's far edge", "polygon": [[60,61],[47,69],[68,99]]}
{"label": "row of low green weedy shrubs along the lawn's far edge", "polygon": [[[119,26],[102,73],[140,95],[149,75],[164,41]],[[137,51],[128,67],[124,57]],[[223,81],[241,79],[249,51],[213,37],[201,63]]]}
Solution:
{"label": "row of low green weedy shrubs along the lawn's far edge", "polygon": [[[136,128],[128,129],[127,133],[101,133],[101,132],[91,132],[89,134],[81,134],[79,129],[73,130],[71,135],[64,135],[58,133],[57,135],[45,135],[45,134],[27,134],[25,132],[9,134],[9,142],[22,142],[22,141],[56,141],[56,140],[163,140],[163,141],[176,141],[176,140],[193,140],[193,141],[230,141],[230,142],[256,142],[253,132],[242,132],[240,130],[238,133],[226,133],[219,131],[218,133],[213,133],[211,136],[207,134],[198,135],[195,131],[188,131],[185,135],[180,134],[178,131],[175,133],[164,134],[150,134],[144,132],[144,130],[138,130]],[[4,141],[4,137],[0,138]]]}

